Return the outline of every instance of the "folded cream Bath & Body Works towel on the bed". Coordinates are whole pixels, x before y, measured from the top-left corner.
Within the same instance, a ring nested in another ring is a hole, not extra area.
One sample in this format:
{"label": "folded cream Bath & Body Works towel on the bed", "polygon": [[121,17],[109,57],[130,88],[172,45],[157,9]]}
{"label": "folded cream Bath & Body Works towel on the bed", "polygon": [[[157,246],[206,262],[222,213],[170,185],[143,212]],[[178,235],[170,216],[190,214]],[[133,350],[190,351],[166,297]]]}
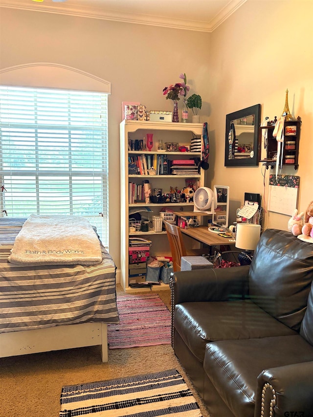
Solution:
{"label": "folded cream Bath & Body Works towel on the bed", "polygon": [[102,261],[100,241],[87,219],[32,214],[17,235],[10,263],[94,265]]}

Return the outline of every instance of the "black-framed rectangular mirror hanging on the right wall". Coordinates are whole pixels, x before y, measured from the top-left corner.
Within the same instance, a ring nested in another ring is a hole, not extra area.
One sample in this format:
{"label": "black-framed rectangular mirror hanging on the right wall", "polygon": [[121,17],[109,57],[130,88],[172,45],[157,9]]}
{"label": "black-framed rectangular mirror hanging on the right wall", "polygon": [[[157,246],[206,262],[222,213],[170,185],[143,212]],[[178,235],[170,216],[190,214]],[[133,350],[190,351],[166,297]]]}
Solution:
{"label": "black-framed rectangular mirror hanging on the right wall", "polygon": [[226,114],[225,167],[258,165],[261,105]]}

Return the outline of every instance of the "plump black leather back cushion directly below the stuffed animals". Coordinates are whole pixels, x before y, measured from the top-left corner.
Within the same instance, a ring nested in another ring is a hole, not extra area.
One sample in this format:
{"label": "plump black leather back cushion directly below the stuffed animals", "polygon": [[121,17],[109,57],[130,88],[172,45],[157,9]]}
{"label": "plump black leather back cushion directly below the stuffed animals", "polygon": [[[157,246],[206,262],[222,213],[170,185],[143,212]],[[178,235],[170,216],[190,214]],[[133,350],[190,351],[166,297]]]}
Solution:
{"label": "plump black leather back cushion directly below the stuffed animals", "polygon": [[249,295],[271,316],[300,330],[313,279],[313,246],[290,232],[267,229],[249,270]]}

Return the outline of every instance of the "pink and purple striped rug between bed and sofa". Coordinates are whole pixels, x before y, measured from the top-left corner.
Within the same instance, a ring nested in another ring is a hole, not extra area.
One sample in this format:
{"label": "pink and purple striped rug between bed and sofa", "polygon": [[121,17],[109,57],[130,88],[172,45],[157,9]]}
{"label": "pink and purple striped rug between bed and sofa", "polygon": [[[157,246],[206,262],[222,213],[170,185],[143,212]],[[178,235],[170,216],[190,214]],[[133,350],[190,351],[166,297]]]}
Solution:
{"label": "pink and purple striped rug between bed and sofa", "polygon": [[109,349],[171,343],[171,313],[157,294],[117,297],[119,324],[108,325]]}

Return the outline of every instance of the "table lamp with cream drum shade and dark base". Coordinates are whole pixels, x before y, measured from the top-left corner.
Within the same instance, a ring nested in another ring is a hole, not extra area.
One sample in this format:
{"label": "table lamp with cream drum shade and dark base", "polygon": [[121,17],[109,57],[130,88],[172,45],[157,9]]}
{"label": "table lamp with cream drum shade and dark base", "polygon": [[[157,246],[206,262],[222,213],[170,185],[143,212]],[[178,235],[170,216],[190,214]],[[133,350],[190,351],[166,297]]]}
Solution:
{"label": "table lamp with cream drum shade and dark base", "polygon": [[260,239],[261,225],[251,223],[237,223],[235,246],[243,251],[238,255],[240,265],[250,265],[251,251],[256,248]]}

